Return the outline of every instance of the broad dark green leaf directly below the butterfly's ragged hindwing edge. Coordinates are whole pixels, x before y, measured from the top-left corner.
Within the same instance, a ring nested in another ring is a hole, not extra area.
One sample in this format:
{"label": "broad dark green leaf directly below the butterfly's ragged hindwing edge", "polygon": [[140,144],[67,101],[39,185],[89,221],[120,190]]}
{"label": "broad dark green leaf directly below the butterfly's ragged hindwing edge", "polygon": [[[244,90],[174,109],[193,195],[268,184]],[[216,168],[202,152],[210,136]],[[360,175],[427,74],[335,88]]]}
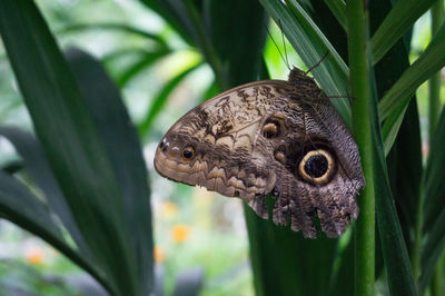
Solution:
{"label": "broad dark green leaf directly below the butterfly's ragged hindwing edge", "polygon": [[256,295],[326,295],[338,239],[306,239],[245,205]]}

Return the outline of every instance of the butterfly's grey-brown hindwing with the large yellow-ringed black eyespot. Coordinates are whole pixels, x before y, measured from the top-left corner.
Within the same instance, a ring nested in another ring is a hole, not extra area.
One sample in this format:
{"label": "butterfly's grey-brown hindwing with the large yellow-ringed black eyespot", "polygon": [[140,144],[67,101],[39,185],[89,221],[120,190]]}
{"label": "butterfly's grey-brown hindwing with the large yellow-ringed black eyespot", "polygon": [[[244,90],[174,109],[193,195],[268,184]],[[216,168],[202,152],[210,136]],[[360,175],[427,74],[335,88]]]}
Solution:
{"label": "butterfly's grey-brown hindwing with the large yellow-ringed black eyespot", "polygon": [[284,112],[283,132],[266,139],[273,146],[268,149],[275,151],[275,170],[280,176],[276,181],[273,219],[315,238],[317,216],[322,230],[328,237],[337,237],[358,215],[355,196],[365,185],[360,158],[353,137],[326,96],[320,92],[309,97],[276,101]]}

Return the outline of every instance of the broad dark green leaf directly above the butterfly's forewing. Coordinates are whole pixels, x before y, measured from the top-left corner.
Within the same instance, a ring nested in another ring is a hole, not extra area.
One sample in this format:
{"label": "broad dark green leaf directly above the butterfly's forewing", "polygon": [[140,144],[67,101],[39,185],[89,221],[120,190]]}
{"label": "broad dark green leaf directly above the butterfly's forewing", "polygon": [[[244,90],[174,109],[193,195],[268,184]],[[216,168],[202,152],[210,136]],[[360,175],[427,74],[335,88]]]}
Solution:
{"label": "broad dark green leaf directly above the butterfly's forewing", "polygon": [[[220,69],[214,67],[221,80],[219,87],[228,89],[256,80],[263,53],[258,49],[266,40],[267,19],[263,7],[251,0],[206,0],[204,13],[202,30],[220,61]],[[246,36],[249,37],[248,47]]]}

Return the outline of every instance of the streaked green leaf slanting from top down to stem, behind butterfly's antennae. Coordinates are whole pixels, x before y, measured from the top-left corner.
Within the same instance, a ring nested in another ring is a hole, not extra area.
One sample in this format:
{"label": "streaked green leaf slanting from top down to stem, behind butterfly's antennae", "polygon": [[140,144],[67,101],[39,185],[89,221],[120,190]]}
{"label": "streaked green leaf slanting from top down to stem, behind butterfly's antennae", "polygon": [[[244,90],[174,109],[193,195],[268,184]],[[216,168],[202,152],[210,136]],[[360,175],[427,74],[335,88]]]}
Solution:
{"label": "streaked green leaf slanting from top down to stem, behind butterfly's antennae", "polygon": [[[299,57],[312,67],[312,73],[317,79],[322,89],[334,97],[347,96],[348,68],[330,45],[324,33],[318,29],[306,11],[296,1],[260,0],[275,22],[280,23],[283,32],[290,41]],[[327,57],[318,65],[322,58]],[[350,107],[346,99],[332,100],[346,125],[350,127]]]}

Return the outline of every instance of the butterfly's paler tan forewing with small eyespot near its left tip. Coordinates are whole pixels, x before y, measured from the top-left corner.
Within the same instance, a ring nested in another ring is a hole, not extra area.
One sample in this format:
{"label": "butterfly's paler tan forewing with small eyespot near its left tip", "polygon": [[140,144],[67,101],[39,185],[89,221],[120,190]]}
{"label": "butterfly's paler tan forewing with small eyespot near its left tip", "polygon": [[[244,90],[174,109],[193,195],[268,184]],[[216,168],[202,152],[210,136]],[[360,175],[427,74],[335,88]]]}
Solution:
{"label": "butterfly's paler tan forewing with small eyespot near its left tip", "polygon": [[289,90],[286,81],[258,81],[197,106],[167,131],[155,168],[175,181],[228,197],[249,201],[264,196],[273,189],[276,174],[267,158],[255,154],[255,138],[274,100]]}

